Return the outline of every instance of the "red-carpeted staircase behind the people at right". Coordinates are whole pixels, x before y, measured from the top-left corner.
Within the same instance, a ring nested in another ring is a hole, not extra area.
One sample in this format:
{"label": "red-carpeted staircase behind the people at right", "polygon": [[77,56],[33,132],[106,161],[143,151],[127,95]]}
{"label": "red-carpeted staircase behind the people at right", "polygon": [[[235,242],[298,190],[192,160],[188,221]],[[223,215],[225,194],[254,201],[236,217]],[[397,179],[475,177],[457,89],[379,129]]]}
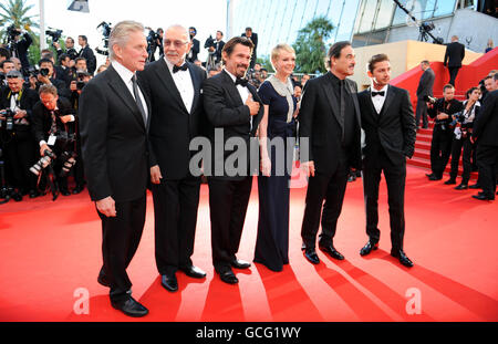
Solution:
{"label": "red-carpeted staircase behind the people at right", "polygon": [[[436,80],[434,83],[435,97],[442,97],[443,87],[449,81],[447,69],[442,62],[430,63],[430,67],[436,73]],[[456,98],[459,101],[465,100],[465,93],[467,90],[474,86],[478,86],[479,81],[483,80],[491,70],[498,70],[498,48],[491,52],[483,55],[478,60],[474,61],[469,65],[464,65],[458,73],[456,80]],[[416,90],[418,81],[422,76],[422,70],[416,66],[411,71],[395,77],[391,84],[408,90],[412,98],[414,112],[416,108],[417,96]],[[434,122],[429,121],[429,127],[427,129],[419,129],[417,132],[417,140],[415,144],[415,155],[408,160],[408,165],[417,166],[430,170],[430,140],[433,137]],[[449,173],[449,163],[446,167],[446,173]],[[459,161],[458,175],[463,171],[461,157]],[[477,173],[473,173],[470,179],[477,179]]]}

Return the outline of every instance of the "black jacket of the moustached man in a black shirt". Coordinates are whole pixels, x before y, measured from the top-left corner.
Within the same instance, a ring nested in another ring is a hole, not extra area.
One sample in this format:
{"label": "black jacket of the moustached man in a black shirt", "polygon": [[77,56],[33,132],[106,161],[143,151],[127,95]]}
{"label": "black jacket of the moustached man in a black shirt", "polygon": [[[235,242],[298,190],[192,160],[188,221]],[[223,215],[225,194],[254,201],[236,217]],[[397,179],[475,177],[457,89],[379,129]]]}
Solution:
{"label": "black jacket of the moustached man in a black shirt", "polygon": [[[310,139],[309,159],[301,154],[301,161],[314,161],[317,173],[332,174],[339,164],[338,148],[342,145],[342,124],[340,108],[329,72],[307,82],[299,113],[299,137],[301,148],[303,138]],[[361,115],[357,103],[357,86],[352,80],[345,80],[345,90],[353,97],[356,121],[354,124],[354,144],[349,152],[350,167],[361,168]]]}

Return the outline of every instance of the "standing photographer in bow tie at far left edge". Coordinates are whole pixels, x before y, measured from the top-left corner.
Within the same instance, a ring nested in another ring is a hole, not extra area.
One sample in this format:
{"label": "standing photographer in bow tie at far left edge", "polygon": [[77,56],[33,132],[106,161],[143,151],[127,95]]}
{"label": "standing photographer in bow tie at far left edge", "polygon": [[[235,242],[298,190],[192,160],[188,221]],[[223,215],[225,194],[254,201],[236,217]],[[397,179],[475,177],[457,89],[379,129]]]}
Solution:
{"label": "standing photographer in bow tie at far left edge", "polygon": [[30,198],[39,196],[37,178],[30,167],[37,161],[37,145],[31,133],[32,108],[38,102],[34,91],[23,86],[21,72],[13,70],[7,73],[9,92],[0,98],[1,142],[6,156],[9,184],[14,188],[15,200],[22,195]]}

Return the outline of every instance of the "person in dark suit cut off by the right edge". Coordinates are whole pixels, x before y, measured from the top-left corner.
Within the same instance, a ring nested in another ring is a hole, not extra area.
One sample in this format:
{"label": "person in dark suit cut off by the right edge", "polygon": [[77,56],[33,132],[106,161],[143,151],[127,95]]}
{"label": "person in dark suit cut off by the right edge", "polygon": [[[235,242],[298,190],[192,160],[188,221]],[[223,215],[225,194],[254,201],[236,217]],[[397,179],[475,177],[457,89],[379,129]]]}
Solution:
{"label": "person in dark suit cut off by the right edge", "polygon": [[[498,73],[495,74],[494,81],[498,83]],[[479,116],[474,123],[471,142],[478,143],[477,165],[479,184],[483,188],[483,192],[473,197],[479,200],[494,200],[498,173],[498,91],[487,94]]]}

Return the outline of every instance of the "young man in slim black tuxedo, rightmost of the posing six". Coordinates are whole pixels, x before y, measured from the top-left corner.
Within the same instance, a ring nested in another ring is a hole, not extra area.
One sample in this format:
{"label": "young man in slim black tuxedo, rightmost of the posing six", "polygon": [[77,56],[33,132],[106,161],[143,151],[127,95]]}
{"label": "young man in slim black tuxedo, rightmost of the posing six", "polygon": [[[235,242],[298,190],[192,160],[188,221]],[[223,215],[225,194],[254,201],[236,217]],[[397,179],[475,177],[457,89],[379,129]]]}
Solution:
{"label": "young man in slim black tuxedo, rightmost of the posing six", "polygon": [[387,55],[372,56],[369,76],[372,79],[372,86],[357,96],[366,144],[363,150],[363,190],[369,236],[369,242],[360,254],[366,256],[378,247],[378,185],[384,173],[391,219],[391,256],[411,268],[413,262],[403,251],[403,238],[406,158],[412,158],[416,140],[412,102],[406,90],[390,85],[391,63]]}

